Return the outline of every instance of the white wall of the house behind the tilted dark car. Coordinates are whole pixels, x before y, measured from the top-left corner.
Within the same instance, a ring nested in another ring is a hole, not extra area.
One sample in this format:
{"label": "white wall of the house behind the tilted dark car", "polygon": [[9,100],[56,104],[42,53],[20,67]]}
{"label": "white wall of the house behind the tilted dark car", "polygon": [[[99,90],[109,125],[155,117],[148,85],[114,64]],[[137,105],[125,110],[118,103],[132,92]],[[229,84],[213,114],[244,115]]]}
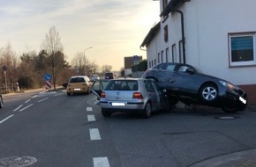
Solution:
{"label": "white wall of the house behind the tilted dark car", "polygon": [[[162,9],[162,0],[160,1]],[[233,67],[229,64],[229,33],[256,32],[255,0],[192,0],[178,10],[184,12],[185,61],[212,76],[222,77],[234,84],[256,84],[255,67]],[[161,10],[162,11],[162,10]],[[178,42],[181,36],[181,18],[172,12],[161,22],[159,33],[147,46],[147,61]],[[163,40],[163,27],[168,25],[169,41]],[[177,60],[178,61],[178,60]]]}

